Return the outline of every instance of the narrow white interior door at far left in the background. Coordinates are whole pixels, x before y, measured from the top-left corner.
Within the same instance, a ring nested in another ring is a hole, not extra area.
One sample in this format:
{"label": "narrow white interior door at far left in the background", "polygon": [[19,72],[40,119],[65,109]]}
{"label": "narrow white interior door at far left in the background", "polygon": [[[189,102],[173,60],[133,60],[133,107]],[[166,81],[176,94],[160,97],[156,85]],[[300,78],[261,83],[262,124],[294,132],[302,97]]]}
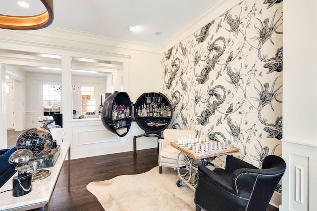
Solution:
{"label": "narrow white interior door at far left in the background", "polygon": [[6,128],[14,129],[13,83],[6,82]]}

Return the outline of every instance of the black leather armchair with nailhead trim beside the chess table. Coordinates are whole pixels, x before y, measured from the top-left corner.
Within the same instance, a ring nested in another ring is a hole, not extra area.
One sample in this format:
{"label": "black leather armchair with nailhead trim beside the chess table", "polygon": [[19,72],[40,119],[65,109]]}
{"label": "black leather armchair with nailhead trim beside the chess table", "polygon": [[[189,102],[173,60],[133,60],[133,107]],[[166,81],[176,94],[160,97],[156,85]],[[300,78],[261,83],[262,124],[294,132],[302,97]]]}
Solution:
{"label": "black leather armchair with nailhead trim beside the chess table", "polygon": [[227,156],[225,169],[200,165],[196,211],[266,211],[285,169],[285,161],[275,155],[264,158],[262,169],[233,156]]}

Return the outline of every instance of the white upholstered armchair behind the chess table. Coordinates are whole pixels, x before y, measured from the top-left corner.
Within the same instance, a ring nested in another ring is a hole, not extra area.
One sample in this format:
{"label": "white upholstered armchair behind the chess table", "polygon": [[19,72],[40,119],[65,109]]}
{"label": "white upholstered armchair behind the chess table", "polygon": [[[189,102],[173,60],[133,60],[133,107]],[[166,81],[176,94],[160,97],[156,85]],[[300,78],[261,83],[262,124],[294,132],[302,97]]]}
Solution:
{"label": "white upholstered armchair behind the chess table", "polygon": [[[178,138],[195,135],[196,131],[191,129],[165,129],[163,138],[159,139],[159,173],[162,173],[162,167],[175,168],[177,155],[180,151],[170,145],[170,142],[177,141]],[[184,160],[180,158],[179,160]],[[185,163],[180,163],[184,164]]]}

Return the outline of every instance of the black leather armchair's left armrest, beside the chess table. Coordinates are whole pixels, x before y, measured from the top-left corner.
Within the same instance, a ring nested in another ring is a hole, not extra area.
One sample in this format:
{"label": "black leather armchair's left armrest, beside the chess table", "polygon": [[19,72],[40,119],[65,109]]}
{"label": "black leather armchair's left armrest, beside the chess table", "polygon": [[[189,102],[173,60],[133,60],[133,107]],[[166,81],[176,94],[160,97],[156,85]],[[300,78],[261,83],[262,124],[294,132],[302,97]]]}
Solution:
{"label": "black leather armchair's left armrest, beside the chess table", "polygon": [[[216,174],[215,172],[206,168],[203,165],[198,166],[198,171],[199,171],[199,179],[200,180],[201,180],[202,176],[205,176],[210,180],[210,182],[214,183],[215,185],[219,186],[220,188],[225,189],[233,194],[236,194],[235,190],[232,188],[231,181],[229,183],[228,181],[223,179],[221,176],[219,176],[218,174]],[[200,183],[198,183],[198,184],[200,184]],[[204,184],[201,184],[201,185],[204,185]]]}

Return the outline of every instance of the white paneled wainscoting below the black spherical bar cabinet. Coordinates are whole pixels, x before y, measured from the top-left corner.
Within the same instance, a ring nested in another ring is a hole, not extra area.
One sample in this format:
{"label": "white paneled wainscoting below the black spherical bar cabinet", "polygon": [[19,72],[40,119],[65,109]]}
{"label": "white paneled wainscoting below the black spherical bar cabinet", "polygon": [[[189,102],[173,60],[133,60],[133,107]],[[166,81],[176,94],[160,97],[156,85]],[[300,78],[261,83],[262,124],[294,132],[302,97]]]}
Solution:
{"label": "white paneled wainscoting below the black spherical bar cabinet", "polygon": [[[129,132],[119,137],[107,130],[101,119],[73,120],[71,125],[71,159],[133,151],[133,136],[144,133],[133,123]],[[137,140],[137,150],[157,146],[157,138],[141,137]]]}

